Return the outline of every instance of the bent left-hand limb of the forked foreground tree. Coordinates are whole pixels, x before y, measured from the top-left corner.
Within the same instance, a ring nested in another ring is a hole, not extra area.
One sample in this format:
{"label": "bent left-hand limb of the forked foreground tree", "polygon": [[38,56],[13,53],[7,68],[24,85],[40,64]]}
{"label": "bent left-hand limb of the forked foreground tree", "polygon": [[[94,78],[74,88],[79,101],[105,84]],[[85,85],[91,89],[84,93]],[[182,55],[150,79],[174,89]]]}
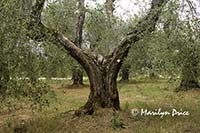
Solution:
{"label": "bent left-hand limb of the forked foreground tree", "polygon": [[28,36],[36,41],[51,41],[58,47],[64,47],[73,58],[85,69],[88,69],[90,67],[89,64],[93,63],[93,57],[90,54],[85,53],[62,33],[42,24],[41,14],[44,3],[45,0],[36,0],[35,5],[32,7],[31,18],[28,24]]}

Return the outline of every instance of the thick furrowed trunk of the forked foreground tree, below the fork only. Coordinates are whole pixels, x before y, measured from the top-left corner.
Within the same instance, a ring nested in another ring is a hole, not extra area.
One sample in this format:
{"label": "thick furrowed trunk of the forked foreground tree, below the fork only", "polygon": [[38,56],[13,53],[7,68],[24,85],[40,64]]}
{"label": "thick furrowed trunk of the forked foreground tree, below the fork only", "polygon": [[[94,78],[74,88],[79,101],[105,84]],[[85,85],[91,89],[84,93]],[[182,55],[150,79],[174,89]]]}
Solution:
{"label": "thick furrowed trunk of the forked foreground tree, below the fork only", "polygon": [[120,109],[119,94],[117,90],[118,70],[107,70],[95,64],[91,65],[92,71],[88,73],[90,81],[90,94],[84,106],[75,114],[92,114],[97,108]]}

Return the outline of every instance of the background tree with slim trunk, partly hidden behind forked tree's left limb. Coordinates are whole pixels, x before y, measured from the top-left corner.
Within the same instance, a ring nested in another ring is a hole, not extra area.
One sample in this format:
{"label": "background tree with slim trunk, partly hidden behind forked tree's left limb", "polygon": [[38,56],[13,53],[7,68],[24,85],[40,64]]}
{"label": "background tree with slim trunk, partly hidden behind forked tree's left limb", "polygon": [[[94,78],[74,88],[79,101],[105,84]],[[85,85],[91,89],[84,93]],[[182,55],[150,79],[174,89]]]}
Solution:
{"label": "background tree with slim trunk, partly hidden behind forked tree's left limb", "polygon": [[[48,3],[44,10],[44,23],[65,32],[78,47],[83,43],[83,25],[85,21],[84,0],[59,1]],[[78,6],[77,6],[78,4]],[[64,16],[62,16],[64,14]],[[72,85],[83,85],[83,71],[76,61],[71,60]],[[52,70],[53,71],[53,70]]]}

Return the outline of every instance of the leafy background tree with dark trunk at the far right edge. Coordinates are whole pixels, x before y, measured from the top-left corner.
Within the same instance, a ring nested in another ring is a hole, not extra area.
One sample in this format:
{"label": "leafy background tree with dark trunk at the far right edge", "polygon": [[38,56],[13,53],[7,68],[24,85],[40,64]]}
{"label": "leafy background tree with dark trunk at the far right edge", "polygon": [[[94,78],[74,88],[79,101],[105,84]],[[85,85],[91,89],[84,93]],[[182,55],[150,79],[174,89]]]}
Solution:
{"label": "leafy background tree with dark trunk at the far right edge", "polygon": [[[196,12],[193,3],[187,1],[188,12],[180,13],[185,10],[185,6],[177,1],[171,2],[168,12],[165,14],[164,31],[167,35],[168,47],[173,48],[177,53],[174,58],[177,67],[181,71],[181,83],[178,90],[199,88],[198,85],[198,66],[199,66],[199,46],[198,46],[198,17],[193,14]],[[192,6],[192,7],[191,7]],[[186,16],[181,20],[181,17]],[[172,46],[173,45],[173,46]]]}

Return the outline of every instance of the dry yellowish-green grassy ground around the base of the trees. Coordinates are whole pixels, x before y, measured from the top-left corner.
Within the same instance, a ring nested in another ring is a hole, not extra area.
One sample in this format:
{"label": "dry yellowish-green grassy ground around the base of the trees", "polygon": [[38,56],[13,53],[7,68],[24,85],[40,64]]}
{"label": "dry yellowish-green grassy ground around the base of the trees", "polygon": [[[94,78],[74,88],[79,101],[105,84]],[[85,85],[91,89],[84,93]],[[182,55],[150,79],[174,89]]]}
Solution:
{"label": "dry yellowish-green grassy ground around the base of the trees", "polygon": [[[77,133],[198,133],[200,132],[200,91],[175,93],[176,84],[166,81],[145,81],[120,83],[119,94],[122,111],[101,109],[92,116],[74,117],[73,110],[83,105],[89,87],[69,88],[66,82],[51,82],[57,98],[50,99],[51,106],[42,112],[33,113],[29,109],[19,109],[11,113],[0,113],[0,132],[27,130],[42,132]],[[189,116],[132,116],[131,109],[171,112],[189,111]],[[72,110],[72,111],[69,111]],[[24,124],[22,124],[24,123]],[[124,128],[122,127],[124,124]],[[120,125],[121,124],[121,125]],[[113,129],[113,127],[119,127]]]}

